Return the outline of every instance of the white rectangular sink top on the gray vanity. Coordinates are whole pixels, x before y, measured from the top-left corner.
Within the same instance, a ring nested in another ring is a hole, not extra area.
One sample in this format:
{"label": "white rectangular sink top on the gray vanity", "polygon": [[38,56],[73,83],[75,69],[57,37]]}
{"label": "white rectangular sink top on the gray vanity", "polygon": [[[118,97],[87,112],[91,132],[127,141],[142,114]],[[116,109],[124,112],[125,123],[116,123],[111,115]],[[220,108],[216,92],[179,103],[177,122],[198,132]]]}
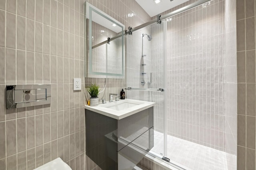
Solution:
{"label": "white rectangular sink top on the gray vanity", "polygon": [[149,107],[154,106],[154,104],[154,102],[125,99],[107,102],[106,104],[99,104],[96,107],[85,106],[85,109],[119,120],[144,109],[148,109]]}

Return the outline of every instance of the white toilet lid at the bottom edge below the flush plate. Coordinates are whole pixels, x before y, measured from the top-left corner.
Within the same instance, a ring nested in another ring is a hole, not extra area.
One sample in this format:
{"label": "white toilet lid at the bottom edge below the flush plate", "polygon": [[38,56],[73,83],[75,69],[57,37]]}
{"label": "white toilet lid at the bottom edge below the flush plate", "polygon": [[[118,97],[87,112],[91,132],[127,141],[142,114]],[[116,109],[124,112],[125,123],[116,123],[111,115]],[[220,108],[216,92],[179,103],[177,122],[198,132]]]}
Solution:
{"label": "white toilet lid at the bottom edge below the flush plate", "polygon": [[61,158],[56,158],[34,170],[72,170]]}

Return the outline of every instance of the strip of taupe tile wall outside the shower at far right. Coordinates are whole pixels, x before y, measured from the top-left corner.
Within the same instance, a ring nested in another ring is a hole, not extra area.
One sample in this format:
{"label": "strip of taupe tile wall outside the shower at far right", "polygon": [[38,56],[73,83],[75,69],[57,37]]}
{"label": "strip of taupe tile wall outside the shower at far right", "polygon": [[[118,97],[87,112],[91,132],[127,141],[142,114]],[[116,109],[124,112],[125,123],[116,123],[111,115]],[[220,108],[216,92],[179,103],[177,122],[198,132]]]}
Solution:
{"label": "strip of taupe tile wall outside the shower at far right", "polygon": [[237,169],[255,169],[255,0],[236,0]]}

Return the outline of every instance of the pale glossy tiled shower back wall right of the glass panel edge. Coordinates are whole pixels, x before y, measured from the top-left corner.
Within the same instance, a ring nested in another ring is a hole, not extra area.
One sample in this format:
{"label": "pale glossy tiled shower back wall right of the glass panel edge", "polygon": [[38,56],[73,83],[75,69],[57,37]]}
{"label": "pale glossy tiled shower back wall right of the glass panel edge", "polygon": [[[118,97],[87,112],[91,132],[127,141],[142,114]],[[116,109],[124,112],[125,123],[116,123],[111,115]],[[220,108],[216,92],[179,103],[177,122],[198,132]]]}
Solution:
{"label": "pale glossy tiled shower back wall right of the glass panel edge", "polygon": [[167,22],[167,131],[224,150],[223,1]]}

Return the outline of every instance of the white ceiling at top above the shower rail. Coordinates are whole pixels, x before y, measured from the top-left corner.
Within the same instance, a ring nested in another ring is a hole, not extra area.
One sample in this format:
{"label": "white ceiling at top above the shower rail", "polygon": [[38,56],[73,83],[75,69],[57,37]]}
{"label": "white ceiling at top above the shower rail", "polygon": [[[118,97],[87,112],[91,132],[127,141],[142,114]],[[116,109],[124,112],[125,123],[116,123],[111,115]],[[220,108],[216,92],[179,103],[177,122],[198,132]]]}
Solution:
{"label": "white ceiling at top above the shower rail", "polygon": [[173,0],[170,2],[170,0],[160,0],[160,2],[156,4],[154,0],[136,0],[136,2],[148,13],[150,17],[161,14],[187,1],[188,0]]}

